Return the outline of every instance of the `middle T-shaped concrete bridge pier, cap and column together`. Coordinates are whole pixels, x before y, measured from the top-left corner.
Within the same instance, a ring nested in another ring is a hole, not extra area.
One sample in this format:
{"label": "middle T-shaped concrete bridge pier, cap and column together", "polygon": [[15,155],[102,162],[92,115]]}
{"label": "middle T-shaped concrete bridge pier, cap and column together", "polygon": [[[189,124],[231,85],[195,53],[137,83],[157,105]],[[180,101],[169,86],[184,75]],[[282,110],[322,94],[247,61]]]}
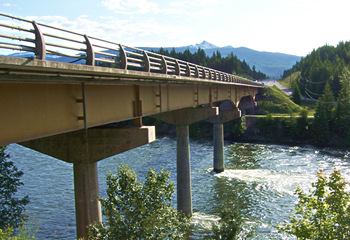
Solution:
{"label": "middle T-shaped concrete bridge pier, cap and column together", "polygon": [[188,125],[218,114],[217,107],[183,108],[180,110],[153,115],[172,125],[176,125],[176,185],[177,209],[192,216],[192,192],[190,174],[190,138]]}

